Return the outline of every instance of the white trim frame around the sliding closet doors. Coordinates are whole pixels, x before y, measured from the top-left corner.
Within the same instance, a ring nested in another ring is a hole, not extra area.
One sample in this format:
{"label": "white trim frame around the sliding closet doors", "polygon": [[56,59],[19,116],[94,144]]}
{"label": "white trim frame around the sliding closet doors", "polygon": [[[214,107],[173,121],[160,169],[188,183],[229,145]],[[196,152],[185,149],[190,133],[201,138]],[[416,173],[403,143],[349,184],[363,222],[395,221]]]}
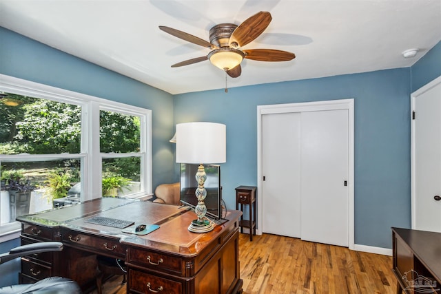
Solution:
{"label": "white trim frame around the sliding closet doors", "polygon": [[262,171],[262,116],[265,114],[283,114],[290,112],[317,112],[325,110],[348,110],[348,244],[354,249],[354,99],[331,101],[314,101],[305,103],[287,103],[257,106],[257,203],[256,203],[256,234],[262,235],[263,211],[260,203],[263,201],[263,171]]}

